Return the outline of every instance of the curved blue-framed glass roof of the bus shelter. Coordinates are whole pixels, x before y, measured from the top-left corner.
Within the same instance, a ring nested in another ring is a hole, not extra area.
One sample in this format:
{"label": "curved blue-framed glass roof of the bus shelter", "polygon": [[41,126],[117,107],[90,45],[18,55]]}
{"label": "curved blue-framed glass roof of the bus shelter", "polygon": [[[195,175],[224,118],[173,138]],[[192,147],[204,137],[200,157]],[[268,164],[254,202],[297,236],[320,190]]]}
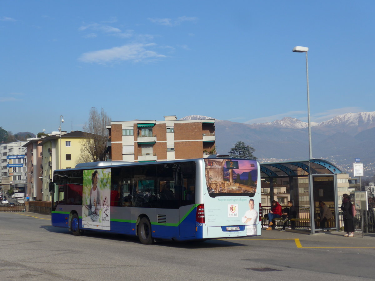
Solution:
{"label": "curved blue-framed glass roof of the bus shelter", "polygon": [[334,164],[322,159],[285,161],[260,164],[261,177],[307,176],[309,174],[340,174]]}

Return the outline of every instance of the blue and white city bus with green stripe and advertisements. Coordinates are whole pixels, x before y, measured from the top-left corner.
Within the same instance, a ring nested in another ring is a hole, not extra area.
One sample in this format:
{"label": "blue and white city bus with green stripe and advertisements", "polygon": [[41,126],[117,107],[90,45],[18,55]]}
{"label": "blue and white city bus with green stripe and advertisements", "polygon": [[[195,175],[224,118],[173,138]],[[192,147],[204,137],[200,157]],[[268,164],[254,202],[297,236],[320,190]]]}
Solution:
{"label": "blue and white city bus with green stripe and advertisements", "polygon": [[93,162],[55,170],[52,226],[156,240],[261,234],[260,167],[220,155],[148,163]]}

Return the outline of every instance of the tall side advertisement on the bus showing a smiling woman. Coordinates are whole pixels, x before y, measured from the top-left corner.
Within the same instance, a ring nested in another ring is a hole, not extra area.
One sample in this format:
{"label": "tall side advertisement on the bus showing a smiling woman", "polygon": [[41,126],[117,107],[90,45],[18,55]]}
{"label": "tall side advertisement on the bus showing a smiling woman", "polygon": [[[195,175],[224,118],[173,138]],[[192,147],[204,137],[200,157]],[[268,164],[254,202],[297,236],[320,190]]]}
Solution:
{"label": "tall side advertisement on the bus showing a smiling woman", "polygon": [[111,230],[111,169],[83,171],[82,227]]}

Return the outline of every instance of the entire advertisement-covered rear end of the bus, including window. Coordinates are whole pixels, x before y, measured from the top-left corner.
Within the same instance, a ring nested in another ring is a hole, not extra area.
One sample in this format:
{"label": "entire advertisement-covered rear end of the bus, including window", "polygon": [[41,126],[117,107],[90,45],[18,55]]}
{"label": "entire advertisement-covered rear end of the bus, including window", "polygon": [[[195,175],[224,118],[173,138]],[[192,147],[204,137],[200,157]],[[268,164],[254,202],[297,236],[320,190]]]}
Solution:
{"label": "entire advertisement-covered rear end of the bus, including window", "polygon": [[[204,195],[208,237],[260,235],[258,163],[245,159],[205,159]],[[215,228],[216,227],[216,228]]]}

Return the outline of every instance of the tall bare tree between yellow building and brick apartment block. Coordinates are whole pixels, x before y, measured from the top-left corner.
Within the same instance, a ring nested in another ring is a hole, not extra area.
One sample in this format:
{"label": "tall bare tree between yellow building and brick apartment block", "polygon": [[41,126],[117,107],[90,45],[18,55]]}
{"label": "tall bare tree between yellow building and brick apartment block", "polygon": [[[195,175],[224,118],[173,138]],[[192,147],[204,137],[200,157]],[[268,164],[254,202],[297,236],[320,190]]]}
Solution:
{"label": "tall bare tree between yellow building and brick apartment block", "polygon": [[78,163],[105,161],[105,149],[108,140],[107,126],[111,118],[102,108],[100,112],[90,109],[89,120],[83,126],[85,138],[81,141],[81,154]]}

